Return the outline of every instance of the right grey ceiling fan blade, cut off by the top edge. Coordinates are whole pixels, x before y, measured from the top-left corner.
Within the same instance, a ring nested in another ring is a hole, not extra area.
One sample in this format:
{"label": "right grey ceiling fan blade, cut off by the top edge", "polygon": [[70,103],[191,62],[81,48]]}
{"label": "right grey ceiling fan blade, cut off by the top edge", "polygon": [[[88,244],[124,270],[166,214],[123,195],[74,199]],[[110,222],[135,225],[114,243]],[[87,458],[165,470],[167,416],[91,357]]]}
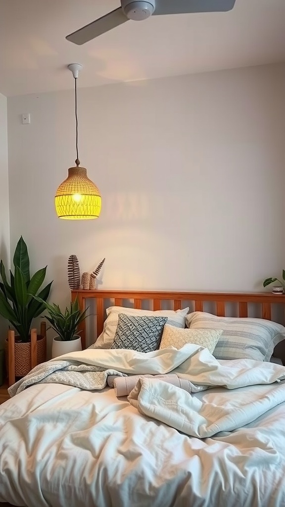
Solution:
{"label": "right grey ceiling fan blade, cut off by the top edge", "polygon": [[231,11],[235,0],[156,0],[153,16]]}

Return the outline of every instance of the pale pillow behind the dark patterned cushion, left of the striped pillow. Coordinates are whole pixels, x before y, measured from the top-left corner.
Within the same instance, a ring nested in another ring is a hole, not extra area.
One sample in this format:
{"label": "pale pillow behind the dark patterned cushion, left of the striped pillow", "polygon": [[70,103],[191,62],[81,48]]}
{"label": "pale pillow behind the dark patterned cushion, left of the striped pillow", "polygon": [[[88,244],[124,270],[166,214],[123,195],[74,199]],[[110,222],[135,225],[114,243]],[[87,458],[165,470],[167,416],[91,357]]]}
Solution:
{"label": "pale pillow behind the dark patterned cushion, left of the striped pillow", "polygon": [[189,308],[183,310],[137,310],[136,308],[125,308],[124,306],[110,306],[106,309],[107,318],[104,322],[103,332],[98,336],[94,343],[94,348],[108,349],[112,346],[117,325],[119,313],[134,316],[154,316],[167,317],[167,323],[176,328],[185,328],[185,317]]}

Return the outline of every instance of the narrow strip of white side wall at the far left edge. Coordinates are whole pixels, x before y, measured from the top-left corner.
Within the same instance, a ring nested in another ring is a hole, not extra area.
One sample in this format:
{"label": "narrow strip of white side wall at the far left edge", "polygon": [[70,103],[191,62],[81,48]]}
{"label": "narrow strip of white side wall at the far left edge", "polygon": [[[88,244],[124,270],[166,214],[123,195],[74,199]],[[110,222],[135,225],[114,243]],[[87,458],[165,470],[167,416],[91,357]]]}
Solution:
{"label": "narrow strip of white side wall at the far left edge", "polygon": [[[0,93],[0,258],[10,267],[7,98]],[[0,316],[0,347],[7,336],[7,321]]]}

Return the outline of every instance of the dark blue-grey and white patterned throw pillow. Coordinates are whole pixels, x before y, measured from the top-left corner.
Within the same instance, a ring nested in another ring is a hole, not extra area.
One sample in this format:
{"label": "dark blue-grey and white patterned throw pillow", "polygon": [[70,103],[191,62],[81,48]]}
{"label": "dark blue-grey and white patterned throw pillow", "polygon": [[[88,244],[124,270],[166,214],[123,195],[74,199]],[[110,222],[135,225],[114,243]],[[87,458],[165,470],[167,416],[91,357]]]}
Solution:
{"label": "dark blue-grey and white patterned throw pillow", "polygon": [[136,317],[119,313],[112,349],[124,348],[151,352],[159,348],[167,317]]}

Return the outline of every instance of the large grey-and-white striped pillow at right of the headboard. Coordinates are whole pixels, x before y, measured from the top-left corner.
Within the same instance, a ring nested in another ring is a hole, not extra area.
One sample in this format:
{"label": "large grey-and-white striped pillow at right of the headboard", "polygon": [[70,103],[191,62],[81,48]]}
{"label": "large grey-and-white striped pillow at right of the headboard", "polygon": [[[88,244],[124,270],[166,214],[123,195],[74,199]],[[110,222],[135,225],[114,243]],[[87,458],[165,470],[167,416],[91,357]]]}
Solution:
{"label": "large grey-and-white striped pillow at right of the headboard", "polygon": [[275,345],[285,339],[283,325],[260,318],[193,312],[186,316],[186,325],[191,329],[223,330],[213,351],[217,359],[269,361]]}

